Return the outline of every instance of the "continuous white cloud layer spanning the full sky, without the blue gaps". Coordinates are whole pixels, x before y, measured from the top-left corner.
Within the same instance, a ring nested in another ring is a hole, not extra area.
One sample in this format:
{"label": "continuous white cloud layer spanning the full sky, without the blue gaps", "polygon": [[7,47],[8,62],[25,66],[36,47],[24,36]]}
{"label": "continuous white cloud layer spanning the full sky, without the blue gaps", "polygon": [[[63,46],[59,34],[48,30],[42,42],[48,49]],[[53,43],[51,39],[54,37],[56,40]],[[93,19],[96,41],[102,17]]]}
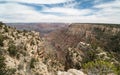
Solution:
{"label": "continuous white cloud layer spanning the full sky, without the blue gaps", "polygon": [[[95,5],[95,8],[100,8],[98,12],[94,12],[92,9],[75,9],[66,7],[44,8],[38,12],[29,6],[17,3],[5,3],[0,4],[0,20],[3,22],[120,23],[120,8],[115,8],[116,6],[119,7],[118,4],[120,2],[115,1],[115,3]],[[60,13],[64,16],[44,14],[42,12]],[[85,16],[89,13],[94,14]]]}

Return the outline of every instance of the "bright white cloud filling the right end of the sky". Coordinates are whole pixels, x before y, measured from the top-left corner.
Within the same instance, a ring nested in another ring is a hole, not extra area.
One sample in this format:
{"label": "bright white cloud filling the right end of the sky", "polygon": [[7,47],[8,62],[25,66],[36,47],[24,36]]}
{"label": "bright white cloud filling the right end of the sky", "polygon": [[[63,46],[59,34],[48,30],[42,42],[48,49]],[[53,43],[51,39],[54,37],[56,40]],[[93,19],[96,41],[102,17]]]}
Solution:
{"label": "bright white cloud filling the right end of the sky", "polygon": [[95,13],[96,16],[106,18],[105,21],[120,23],[120,0],[115,0],[109,3],[95,5],[94,8],[100,10]]}

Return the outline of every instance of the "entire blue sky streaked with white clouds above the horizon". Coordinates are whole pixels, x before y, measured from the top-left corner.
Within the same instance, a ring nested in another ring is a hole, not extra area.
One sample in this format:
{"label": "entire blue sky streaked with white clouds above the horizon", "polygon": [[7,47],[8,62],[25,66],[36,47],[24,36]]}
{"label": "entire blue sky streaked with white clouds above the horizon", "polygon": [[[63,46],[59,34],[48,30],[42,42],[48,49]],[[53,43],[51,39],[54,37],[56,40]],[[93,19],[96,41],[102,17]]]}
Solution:
{"label": "entire blue sky streaked with white clouds above the horizon", "polygon": [[0,21],[120,24],[120,0],[0,0]]}

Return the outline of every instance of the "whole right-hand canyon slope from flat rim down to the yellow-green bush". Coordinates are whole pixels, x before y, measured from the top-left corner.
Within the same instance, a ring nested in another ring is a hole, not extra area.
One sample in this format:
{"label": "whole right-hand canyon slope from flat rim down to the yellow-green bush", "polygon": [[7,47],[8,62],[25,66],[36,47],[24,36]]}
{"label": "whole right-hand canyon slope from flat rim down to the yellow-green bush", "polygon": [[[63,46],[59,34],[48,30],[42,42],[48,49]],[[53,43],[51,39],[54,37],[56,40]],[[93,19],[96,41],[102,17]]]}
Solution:
{"label": "whole right-hand canyon slope from flat rim down to the yellow-green bush", "polygon": [[[101,65],[113,64],[117,73],[120,72],[120,25],[75,23],[68,28],[52,32],[49,38],[57,52],[63,52],[61,57],[65,56],[62,61],[65,63],[65,70],[84,68],[88,70],[86,73],[89,75],[89,71],[98,66],[94,65],[95,62],[104,62],[105,64]],[[93,74],[96,73],[90,75]]]}

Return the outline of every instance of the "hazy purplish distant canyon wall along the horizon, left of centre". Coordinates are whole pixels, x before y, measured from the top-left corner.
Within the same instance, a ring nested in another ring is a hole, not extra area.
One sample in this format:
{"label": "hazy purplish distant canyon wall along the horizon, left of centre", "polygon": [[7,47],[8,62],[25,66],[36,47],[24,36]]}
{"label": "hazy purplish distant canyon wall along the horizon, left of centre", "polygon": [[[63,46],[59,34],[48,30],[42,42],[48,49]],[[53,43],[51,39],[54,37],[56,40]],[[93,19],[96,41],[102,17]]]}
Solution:
{"label": "hazy purplish distant canyon wall along the horizon, left of centre", "polygon": [[28,30],[40,32],[41,36],[46,36],[52,31],[66,28],[68,23],[7,23],[8,26],[18,30]]}

